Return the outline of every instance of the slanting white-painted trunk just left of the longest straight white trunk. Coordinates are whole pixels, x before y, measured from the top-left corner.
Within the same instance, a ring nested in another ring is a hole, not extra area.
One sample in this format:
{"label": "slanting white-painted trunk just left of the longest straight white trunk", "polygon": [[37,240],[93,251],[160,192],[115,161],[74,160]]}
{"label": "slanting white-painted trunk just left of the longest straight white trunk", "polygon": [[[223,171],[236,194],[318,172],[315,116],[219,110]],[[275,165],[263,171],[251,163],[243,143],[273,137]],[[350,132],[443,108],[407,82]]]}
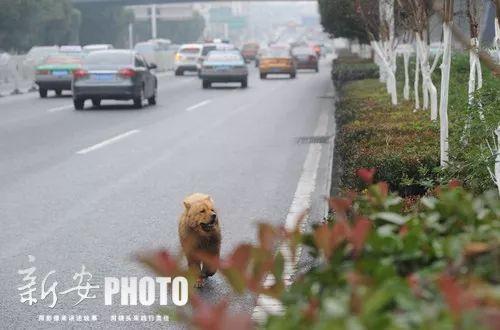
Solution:
{"label": "slanting white-painted trunk just left of the longest straight white trunk", "polygon": [[426,106],[428,108],[428,104],[430,101],[431,120],[437,120],[437,114],[438,114],[437,88],[432,82],[431,68],[429,65],[429,51],[427,50],[427,45],[424,43],[422,36],[419,33],[417,33],[416,40],[418,44],[417,49],[420,53],[420,67],[422,69],[422,80],[423,80],[422,93],[423,93],[424,109],[426,109]]}

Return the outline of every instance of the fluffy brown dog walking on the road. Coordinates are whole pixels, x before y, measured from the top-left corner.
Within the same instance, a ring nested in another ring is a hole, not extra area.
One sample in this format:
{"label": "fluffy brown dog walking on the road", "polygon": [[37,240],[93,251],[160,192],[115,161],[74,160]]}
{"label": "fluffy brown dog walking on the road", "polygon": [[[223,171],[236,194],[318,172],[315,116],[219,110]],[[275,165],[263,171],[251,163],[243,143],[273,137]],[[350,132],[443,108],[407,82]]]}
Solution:
{"label": "fluffy brown dog walking on the road", "polygon": [[202,287],[204,279],[214,275],[217,269],[203,264],[198,254],[218,258],[221,243],[219,218],[210,196],[195,193],[184,199],[184,212],[179,220],[179,239],[188,266],[200,270],[196,286]]}

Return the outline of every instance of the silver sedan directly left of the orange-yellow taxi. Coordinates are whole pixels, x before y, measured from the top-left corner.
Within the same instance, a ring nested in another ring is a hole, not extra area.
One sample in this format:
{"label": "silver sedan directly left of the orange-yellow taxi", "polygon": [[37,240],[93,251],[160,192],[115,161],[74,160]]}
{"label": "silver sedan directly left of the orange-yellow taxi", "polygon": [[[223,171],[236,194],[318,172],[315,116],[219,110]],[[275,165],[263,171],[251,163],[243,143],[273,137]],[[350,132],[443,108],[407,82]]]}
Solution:
{"label": "silver sedan directly left of the orange-yellow taxi", "polygon": [[211,51],[203,61],[200,70],[203,88],[214,82],[239,82],[242,88],[248,86],[248,68],[239,51]]}

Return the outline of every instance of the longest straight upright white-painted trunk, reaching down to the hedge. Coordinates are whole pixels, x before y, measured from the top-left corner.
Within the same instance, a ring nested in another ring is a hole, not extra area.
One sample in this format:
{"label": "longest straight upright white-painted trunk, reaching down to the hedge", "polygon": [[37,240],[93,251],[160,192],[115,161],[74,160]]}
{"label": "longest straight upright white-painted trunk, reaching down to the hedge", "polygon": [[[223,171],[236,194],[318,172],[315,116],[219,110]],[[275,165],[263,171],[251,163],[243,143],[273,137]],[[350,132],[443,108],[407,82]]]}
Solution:
{"label": "longest straight upright white-painted trunk, reaching down to the hedge", "polygon": [[450,89],[450,69],[451,69],[451,24],[443,23],[443,62],[441,63],[441,103],[439,105],[439,145],[441,151],[441,167],[446,167],[449,161],[448,156],[448,96]]}

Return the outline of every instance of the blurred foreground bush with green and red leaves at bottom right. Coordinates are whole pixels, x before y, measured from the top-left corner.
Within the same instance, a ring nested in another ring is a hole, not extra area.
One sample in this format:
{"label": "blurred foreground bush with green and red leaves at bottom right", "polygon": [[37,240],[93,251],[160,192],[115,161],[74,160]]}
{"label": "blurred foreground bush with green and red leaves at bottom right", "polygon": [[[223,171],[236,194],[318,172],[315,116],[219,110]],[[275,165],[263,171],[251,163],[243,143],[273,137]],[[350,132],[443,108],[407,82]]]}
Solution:
{"label": "blurred foreground bush with green and red leaves at bottom right", "polygon": [[409,214],[384,184],[337,199],[266,329],[498,329],[500,200],[454,186]]}

